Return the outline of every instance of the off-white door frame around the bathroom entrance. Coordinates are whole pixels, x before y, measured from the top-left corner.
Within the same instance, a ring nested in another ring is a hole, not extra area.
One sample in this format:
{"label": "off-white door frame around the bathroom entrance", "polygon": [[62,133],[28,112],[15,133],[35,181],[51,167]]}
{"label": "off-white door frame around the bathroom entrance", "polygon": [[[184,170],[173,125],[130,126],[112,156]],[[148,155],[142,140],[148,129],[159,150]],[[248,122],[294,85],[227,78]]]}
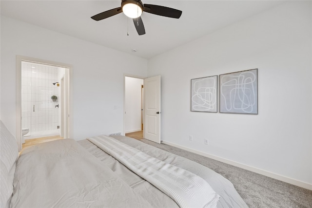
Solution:
{"label": "off-white door frame around the bathroom entrance", "polygon": [[[47,65],[53,65],[53,66],[59,66],[63,68],[67,68],[68,70],[65,70],[65,73],[68,75],[68,127],[69,127],[69,135],[68,138],[70,138],[73,135],[73,66],[70,64],[65,63],[59,63],[55,61],[50,60],[44,60],[34,57],[25,57],[25,56],[16,56],[16,140],[18,142],[19,151],[22,147],[22,141],[21,141],[21,62],[22,61],[29,61],[29,62],[35,62],[35,63],[41,63],[41,64],[47,64]],[[67,115],[65,116],[66,118]]]}

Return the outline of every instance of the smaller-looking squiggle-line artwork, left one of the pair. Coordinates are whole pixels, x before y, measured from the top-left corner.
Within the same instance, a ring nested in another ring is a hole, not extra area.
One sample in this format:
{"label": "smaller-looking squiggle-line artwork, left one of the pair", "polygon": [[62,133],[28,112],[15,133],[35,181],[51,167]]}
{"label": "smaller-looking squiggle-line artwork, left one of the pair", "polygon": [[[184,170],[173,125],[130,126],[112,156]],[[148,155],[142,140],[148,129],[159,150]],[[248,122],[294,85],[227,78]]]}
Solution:
{"label": "smaller-looking squiggle-line artwork, left one of the pair", "polygon": [[216,112],[216,79],[206,77],[192,80],[192,109],[195,111]]}

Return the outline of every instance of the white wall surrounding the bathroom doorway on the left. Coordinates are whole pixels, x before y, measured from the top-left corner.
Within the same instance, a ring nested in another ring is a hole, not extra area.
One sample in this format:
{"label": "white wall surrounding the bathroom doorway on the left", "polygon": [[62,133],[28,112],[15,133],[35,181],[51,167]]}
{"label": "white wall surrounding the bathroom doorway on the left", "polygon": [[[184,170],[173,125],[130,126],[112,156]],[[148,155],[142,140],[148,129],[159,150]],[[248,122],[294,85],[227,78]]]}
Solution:
{"label": "white wall surrounding the bathroom doorway on the left", "polygon": [[1,16],[1,120],[10,132],[16,132],[16,55],[73,65],[76,140],[122,132],[123,74],[147,75],[146,59]]}

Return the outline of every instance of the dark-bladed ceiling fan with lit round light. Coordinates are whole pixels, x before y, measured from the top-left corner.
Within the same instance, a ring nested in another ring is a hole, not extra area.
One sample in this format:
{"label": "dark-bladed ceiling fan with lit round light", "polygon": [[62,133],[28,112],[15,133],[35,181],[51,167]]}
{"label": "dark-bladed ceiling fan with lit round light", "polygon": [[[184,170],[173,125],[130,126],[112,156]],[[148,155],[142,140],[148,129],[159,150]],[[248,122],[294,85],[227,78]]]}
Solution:
{"label": "dark-bladed ceiling fan with lit round light", "polygon": [[99,13],[91,18],[98,21],[112,17],[121,12],[133,19],[138,35],[145,34],[143,21],[140,17],[142,12],[176,19],[179,19],[182,14],[180,10],[153,4],[143,4],[141,0],[121,0],[120,7]]}

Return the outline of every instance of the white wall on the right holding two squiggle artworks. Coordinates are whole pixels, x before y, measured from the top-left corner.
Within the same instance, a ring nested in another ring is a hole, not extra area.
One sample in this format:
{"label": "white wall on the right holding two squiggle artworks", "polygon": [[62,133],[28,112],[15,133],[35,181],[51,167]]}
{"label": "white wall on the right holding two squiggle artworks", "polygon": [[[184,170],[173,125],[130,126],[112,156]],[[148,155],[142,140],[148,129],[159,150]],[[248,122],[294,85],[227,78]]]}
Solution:
{"label": "white wall on the right holding two squiggle artworks", "polygon": [[[162,77],[161,140],[312,189],[311,8],[286,2],[150,59],[148,76]],[[254,68],[258,115],[190,111],[192,78]]]}

